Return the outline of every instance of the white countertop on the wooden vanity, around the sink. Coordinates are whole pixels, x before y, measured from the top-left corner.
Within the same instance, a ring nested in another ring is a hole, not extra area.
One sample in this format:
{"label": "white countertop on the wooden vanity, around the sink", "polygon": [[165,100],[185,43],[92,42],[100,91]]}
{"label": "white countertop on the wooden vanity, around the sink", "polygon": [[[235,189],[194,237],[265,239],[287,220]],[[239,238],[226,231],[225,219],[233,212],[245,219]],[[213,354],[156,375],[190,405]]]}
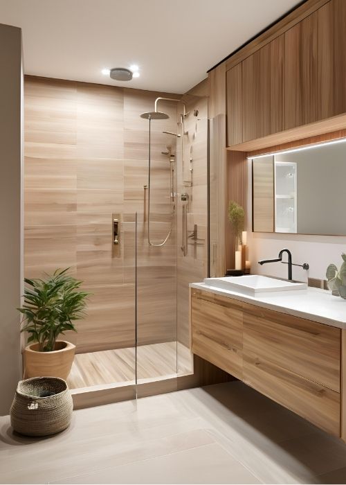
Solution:
{"label": "white countertop on the wooden vanity, around the sink", "polygon": [[221,294],[269,310],[295,315],[296,317],[318,321],[321,324],[346,328],[346,300],[334,297],[327,290],[307,288],[289,292],[273,292],[250,296],[230,290],[224,290],[206,283],[190,283],[191,288],[197,288],[210,293]]}

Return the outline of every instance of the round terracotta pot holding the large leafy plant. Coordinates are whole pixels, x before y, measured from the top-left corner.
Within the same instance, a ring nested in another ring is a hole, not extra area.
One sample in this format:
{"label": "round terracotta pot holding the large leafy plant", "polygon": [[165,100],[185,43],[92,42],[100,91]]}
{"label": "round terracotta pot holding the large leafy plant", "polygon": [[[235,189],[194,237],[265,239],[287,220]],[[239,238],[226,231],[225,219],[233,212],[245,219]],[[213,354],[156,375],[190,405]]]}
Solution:
{"label": "round terracotta pot holding the large leafy plant", "polygon": [[39,352],[39,344],[30,344],[24,351],[24,377],[59,377],[66,380],[75,356],[75,345],[58,340],[52,352]]}

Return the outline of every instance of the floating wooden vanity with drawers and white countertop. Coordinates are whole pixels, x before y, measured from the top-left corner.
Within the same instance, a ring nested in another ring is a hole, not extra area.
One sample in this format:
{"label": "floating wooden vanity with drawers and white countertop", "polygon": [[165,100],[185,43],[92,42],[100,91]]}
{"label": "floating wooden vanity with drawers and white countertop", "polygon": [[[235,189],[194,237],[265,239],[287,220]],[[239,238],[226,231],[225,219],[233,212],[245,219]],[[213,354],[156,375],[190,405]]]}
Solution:
{"label": "floating wooden vanity with drawers and white countertop", "polygon": [[259,276],[261,292],[227,280],[190,284],[192,353],[345,441],[346,301],[317,288],[268,291]]}

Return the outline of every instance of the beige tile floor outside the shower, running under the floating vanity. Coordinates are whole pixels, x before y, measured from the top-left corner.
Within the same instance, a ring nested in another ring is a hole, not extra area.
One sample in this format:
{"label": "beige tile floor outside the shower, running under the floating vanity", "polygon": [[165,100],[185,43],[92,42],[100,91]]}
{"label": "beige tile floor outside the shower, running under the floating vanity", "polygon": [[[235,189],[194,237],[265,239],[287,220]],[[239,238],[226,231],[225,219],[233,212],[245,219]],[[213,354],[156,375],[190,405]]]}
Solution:
{"label": "beige tile floor outside the shower, running under the floating vanity", "polygon": [[346,445],[242,382],[80,409],[46,439],[0,418],[2,484],[346,482]]}

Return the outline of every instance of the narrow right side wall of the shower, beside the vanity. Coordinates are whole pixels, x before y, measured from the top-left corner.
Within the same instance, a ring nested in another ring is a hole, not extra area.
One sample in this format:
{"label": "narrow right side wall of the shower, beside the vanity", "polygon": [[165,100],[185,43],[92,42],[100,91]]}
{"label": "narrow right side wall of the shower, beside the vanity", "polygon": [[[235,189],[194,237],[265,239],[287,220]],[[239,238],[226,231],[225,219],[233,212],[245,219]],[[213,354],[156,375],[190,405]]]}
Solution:
{"label": "narrow right side wall of the shower, beside the vanity", "polygon": [[[208,276],[208,80],[203,80],[182,98],[186,103],[183,163],[178,165],[177,213],[177,318],[178,340],[190,346],[189,283]],[[195,111],[197,110],[198,113]],[[192,171],[191,171],[192,170]],[[181,193],[187,193],[188,236],[197,226],[197,239],[188,238],[186,256],[183,245]]]}

